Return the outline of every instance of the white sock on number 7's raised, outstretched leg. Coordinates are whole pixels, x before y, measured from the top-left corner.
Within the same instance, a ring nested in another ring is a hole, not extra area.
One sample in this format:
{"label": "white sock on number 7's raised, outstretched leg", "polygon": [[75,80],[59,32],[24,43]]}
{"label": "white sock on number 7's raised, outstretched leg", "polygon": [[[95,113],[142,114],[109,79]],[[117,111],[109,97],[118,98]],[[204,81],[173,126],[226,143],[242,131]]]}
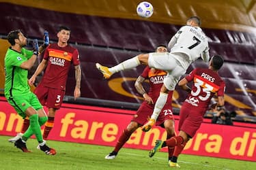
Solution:
{"label": "white sock on number 7's raised, outstretched leg", "polygon": [[133,58],[123,61],[119,65],[109,68],[109,71],[111,73],[117,73],[117,72],[125,70],[125,69],[132,69],[134,67],[137,67],[140,64],[141,63],[139,62],[138,56],[134,56]]}

